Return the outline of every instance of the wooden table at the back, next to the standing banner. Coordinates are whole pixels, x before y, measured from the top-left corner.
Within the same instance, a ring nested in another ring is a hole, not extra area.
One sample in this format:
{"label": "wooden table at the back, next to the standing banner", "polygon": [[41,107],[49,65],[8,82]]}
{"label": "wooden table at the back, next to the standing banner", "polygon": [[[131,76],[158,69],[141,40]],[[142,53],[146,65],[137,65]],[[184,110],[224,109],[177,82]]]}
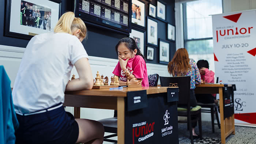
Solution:
{"label": "wooden table at the back, next to the standing banner", "polygon": [[[221,143],[226,143],[226,137],[230,134],[235,134],[235,121],[234,114],[231,117],[225,118],[224,120],[224,110],[223,110],[223,84],[200,84],[196,85],[196,94],[219,94],[219,108],[221,115]],[[232,87],[231,84],[228,87]]]}

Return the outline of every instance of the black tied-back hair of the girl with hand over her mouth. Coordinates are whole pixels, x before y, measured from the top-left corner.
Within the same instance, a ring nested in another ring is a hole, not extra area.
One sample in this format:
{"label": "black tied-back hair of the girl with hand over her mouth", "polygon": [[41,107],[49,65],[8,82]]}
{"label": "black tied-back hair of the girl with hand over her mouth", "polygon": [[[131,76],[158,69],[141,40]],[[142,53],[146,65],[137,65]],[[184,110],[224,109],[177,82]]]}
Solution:
{"label": "black tied-back hair of the girl with hand over her mouth", "polygon": [[142,56],[142,58],[144,59],[144,61],[146,62],[146,58],[143,56],[143,54],[140,52],[140,49],[138,48],[138,46],[136,45],[136,42],[134,41],[133,38],[130,38],[130,37],[126,37],[126,38],[122,38],[118,41],[118,43],[116,44],[116,53],[118,55],[118,46],[121,44],[121,43],[124,43],[125,46],[131,51],[131,54],[132,52],[137,49],[137,53],[136,55],[139,55],[139,56]]}

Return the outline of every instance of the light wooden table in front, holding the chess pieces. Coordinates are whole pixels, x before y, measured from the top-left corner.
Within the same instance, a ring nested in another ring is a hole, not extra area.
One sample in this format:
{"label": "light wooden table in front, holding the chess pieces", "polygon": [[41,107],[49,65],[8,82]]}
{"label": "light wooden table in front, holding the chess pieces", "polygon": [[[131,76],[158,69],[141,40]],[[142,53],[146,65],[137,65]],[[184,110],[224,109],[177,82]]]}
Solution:
{"label": "light wooden table in front, holding the chess pieces", "polygon": [[118,144],[125,140],[125,97],[129,91],[147,90],[148,94],[166,93],[168,87],[138,87],[123,90],[93,89],[65,92],[64,106],[75,107],[74,117],[80,118],[80,107],[117,110]]}

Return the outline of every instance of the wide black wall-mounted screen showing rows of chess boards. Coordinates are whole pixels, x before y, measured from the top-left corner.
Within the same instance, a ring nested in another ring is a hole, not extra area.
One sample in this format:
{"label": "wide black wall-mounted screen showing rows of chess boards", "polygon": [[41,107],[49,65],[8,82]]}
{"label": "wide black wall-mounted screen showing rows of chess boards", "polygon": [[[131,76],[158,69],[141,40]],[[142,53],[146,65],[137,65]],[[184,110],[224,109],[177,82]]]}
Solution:
{"label": "wide black wall-mounted screen showing rows of chess boards", "polygon": [[76,17],[86,25],[129,35],[131,0],[74,0]]}

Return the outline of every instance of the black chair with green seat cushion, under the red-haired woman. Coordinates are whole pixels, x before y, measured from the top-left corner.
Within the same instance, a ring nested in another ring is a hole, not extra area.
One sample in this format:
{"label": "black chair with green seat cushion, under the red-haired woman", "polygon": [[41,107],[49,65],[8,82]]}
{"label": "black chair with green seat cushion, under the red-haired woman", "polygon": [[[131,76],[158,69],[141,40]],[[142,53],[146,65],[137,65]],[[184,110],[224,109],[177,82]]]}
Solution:
{"label": "black chair with green seat cushion, under the red-haired woman", "polygon": [[[179,101],[178,101],[178,116],[187,117],[187,121],[178,121],[179,123],[187,123],[189,127],[191,143],[194,144],[192,134],[192,122],[197,122],[199,125],[199,137],[202,138],[202,118],[201,107],[196,106],[191,109],[190,106],[190,76],[177,77],[159,77],[161,86],[178,86],[179,87]],[[185,108],[183,108],[185,107]],[[191,120],[191,116],[196,119]]]}

